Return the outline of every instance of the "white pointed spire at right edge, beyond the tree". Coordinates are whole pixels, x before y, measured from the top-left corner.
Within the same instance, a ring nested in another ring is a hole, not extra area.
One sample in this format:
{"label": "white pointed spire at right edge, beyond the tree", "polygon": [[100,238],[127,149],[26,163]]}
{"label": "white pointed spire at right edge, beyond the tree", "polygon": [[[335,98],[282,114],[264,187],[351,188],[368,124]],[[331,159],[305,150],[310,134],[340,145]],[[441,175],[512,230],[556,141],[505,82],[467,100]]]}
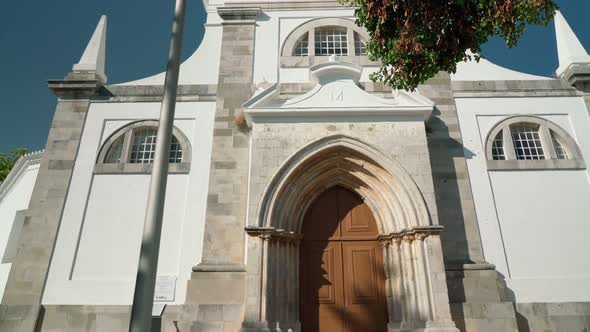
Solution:
{"label": "white pointed spire at right edge, beyond the tree", "polygon": [[590,55],[559,10],[555,13],[555,35],[559,56],[559,68],[556,71],[558,76],[562,76],[572,65],[590,65]]}

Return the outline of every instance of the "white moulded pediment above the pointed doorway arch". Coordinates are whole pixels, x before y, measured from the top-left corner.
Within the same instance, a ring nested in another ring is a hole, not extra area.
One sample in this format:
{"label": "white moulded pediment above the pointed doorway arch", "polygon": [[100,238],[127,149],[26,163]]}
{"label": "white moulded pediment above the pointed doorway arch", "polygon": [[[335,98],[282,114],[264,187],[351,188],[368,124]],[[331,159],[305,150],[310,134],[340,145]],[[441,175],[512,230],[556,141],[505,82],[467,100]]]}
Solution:
{"label": "white moulded pediment above the pointed doorway arch", "polygon": [[[419,92],[393,91],[378,96],[359,84],[362,68],[349,63],[329,62],[310,68],[315,86],[291,98],[280,95],[275,84],[244,104],[249,122],[256,117],[369,116],[396,115],[426,119],[434,103]],[[255,122],[255,121],[254,121]]]}

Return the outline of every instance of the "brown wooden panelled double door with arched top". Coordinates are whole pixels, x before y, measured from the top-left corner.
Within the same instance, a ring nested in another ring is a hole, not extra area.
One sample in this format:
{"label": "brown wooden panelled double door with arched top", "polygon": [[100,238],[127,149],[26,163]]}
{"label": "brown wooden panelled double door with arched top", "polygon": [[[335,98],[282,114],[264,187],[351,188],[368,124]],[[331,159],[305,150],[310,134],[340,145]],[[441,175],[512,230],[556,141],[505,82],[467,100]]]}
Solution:
{"label": "brown wooden panelled double door with arched top", "polygon": [[382,249],[369,207],[334,187],[306,213],[300,246],[303,332],[385,332]]}

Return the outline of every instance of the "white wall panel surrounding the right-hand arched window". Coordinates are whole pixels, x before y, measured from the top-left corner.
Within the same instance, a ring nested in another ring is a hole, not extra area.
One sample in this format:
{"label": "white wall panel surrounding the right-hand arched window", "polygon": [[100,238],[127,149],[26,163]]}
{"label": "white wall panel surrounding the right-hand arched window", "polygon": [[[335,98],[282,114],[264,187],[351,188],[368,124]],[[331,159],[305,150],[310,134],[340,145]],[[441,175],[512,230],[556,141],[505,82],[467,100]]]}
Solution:
{"label": "white wall panel surrounding the right-hand arched window", "polygon": [[485,258],[518,302],[590,301],[588,170],[491,171],[484,140],[506,116],[537,115],[565,129],[590,162],[582,98],[456,99]]}

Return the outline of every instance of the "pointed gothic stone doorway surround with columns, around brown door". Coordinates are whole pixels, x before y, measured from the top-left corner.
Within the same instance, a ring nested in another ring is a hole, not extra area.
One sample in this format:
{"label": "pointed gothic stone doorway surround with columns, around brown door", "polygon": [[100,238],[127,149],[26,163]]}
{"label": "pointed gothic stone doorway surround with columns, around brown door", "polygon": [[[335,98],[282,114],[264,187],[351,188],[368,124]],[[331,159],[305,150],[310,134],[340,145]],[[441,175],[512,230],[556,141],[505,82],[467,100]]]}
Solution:
{"label": "pointed gothic stone doorway surround with columns, around brown door", "polygon": [[[400,163],[358,139],[335,135],[289,157],[266,187],[245,229],[250,291],[242,331],[313,331],[301,326],[300,246],[317,232],[304,230],[307,211],[334,187],[362,197],[372,212],[378,235],[370,237],[382,246],[377,265],[385,275],[387,331],[458,331],[448,303],[442,227]],[[372,312],[364,316],[374,319]]]}

